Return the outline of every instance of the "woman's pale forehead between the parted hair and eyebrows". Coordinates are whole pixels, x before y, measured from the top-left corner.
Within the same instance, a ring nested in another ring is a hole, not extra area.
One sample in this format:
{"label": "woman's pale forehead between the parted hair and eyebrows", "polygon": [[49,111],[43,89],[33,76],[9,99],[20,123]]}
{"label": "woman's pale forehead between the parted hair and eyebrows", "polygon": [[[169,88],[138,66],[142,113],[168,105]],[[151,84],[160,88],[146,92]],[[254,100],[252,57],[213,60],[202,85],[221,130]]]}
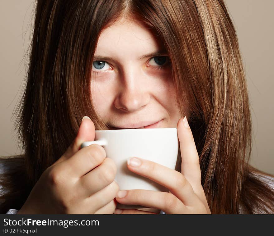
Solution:
{"label": "woman's pale forehead between the parted hair and eyebrows", "polygon": [[100,54],[130,52],[138,55],[157,49],[163,49],[163,43],[152,30],[141,22],[121,19],[102,30],[96,52]]}

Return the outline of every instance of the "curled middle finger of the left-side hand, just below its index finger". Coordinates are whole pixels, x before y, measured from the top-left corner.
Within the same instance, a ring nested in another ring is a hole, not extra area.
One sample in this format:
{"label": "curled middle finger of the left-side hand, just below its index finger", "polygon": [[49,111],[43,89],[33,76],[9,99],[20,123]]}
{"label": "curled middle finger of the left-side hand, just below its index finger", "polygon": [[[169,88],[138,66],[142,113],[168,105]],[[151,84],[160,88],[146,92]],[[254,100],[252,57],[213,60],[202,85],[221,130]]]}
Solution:
{"label": "curled middle finger of the left-side hand, just below its index finger", "polygon": [[116,171],[114,161],[106,157],[101,165],[78,180],[76,191],[84,197],[89,197],[111,184],[114,181]]}

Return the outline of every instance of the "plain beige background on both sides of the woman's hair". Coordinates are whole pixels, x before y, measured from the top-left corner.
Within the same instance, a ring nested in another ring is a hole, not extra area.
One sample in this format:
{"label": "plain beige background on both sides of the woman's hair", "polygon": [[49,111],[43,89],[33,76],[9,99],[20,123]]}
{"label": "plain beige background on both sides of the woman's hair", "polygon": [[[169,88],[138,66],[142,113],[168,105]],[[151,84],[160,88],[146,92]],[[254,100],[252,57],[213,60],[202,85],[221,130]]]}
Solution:
{"label": "plain beige background on both sides of the woman's hair", "polygon": [[[251,164],[274,174],[272,0],[225,1],[239,37],[246,68],[253,120]],[[27,51],[32,28],[33,1],[0,0],[1,137],[0,155],[21,153],[13,131],[12,112],[21,98]]]}

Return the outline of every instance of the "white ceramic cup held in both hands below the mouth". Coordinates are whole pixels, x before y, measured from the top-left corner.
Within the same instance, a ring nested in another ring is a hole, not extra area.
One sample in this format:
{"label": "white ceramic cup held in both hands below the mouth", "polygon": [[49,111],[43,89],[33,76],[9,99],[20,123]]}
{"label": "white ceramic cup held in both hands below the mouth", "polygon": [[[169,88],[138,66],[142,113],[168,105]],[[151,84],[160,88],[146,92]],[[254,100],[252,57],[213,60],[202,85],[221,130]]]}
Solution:
{"label": "white ceramic cup held in both hands below the mouth", "polygon": [[[101,145],[106,156],[114,160],[117,166],[115,181],[120,190],[169,192],[162,185],[128,170],[127,160],[130,157],[140,157],[175,170],[179,147],[176,128],[96,130],[95,141],[84,142],[81,148],[92,144]],[[119,208],[142,207],[118,205]]]}

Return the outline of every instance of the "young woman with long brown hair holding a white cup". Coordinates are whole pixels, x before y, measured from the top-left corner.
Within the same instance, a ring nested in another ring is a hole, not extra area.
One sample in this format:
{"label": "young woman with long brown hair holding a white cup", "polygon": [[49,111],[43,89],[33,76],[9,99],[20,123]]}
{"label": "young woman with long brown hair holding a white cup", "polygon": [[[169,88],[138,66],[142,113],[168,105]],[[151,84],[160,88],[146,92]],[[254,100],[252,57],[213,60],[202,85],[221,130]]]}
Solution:
{"label": "young woman with long brown hair holding a white cup", "polygon": [[[1,160],[1,213],[274,212],[273,176],[248,165],[247,85],[221,0],[38,0],[20,108],[25,154]],[[104,149],[79,150],[95,129],[140,127],[177,127],[179,169],[128,161],[169,193],[119,191]]]}

